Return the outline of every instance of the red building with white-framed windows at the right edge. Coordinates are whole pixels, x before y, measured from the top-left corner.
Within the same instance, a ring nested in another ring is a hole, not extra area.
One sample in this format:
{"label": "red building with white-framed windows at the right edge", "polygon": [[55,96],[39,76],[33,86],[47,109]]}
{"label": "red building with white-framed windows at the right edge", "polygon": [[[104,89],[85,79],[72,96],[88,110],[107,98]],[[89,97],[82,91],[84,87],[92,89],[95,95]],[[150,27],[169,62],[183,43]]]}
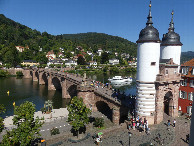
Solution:
{"label": "red building with white-framed windows at the right edge", "polygon": [[179,111],[191,115],[194,96],[194,58],[181,65]]}

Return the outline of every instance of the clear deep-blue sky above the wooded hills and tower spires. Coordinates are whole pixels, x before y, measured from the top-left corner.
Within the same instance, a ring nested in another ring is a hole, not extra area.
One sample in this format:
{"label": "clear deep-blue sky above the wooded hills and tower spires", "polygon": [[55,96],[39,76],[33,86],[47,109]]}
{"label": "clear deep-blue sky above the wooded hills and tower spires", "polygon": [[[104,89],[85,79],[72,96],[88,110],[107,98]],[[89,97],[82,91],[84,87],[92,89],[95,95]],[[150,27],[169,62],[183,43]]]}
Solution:
{"label": "clear deep-blue sky above the wooded hills and tower spires", "polygon": [[[153,26],[160,39],[174,10],[175,32],[182,51],[194,51],[194,1],[152,0]],[[106,33],[136,42],[146,26],[149,0],[0,0],[0,13],[53,35]]]}

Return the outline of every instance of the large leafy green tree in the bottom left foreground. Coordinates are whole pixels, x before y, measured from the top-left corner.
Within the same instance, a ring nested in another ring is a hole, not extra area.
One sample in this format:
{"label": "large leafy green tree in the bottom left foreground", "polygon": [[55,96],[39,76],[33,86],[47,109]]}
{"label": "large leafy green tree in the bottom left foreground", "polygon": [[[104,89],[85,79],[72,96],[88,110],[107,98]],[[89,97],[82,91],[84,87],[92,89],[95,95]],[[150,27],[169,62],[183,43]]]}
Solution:
{"label": "large leafy green tree in the bottom left foreground", "polygon": [[43,122],[39,118],[34,118],[35,105],[26,101],[14,109],[13,124],[17,128],[7,131],[3,136],[3,145],[30,145],[35,139],[40,137],[40,127]]}

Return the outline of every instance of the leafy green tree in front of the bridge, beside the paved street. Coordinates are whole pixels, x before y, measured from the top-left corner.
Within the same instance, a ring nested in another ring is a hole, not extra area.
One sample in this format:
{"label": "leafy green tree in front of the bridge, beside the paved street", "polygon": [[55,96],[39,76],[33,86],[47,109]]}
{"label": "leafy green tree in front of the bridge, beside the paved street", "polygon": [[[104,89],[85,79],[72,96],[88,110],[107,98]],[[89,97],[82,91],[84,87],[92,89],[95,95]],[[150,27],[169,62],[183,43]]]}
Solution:
{"label": "leafy green tree in front of the bridge, beside the paved street", "polygon": [[88,115],[91,111],[84,105],[83,99],[78,98],[77,96],[74,96],[71,99],[70,104],[67,106],[67,110],[69,111],[68,122],[70,122],[72,129],[76,131],[78,136],[80,129],[84,128],[85,124],[88,124]]}

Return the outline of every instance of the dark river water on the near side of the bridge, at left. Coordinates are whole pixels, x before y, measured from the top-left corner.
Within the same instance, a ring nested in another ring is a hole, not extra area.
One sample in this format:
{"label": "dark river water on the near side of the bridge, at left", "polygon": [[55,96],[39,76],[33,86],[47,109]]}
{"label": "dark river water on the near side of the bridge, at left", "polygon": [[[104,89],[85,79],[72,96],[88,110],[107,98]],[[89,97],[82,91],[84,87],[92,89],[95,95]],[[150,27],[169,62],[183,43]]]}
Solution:
{"label": "dark river water on the near side of the bridge, at left", "polygon": [[[7,91],[10,92],[9,96]],[[0,104],[4,104],[6,108],[3,117],[13,115],[13,102],[18,106],[24,101],[30,101],[36,105],[36,110],[40,110],[44,107],[46,100],[53,101],[53,108],[61,108],[61,90],[48,91],[47,85],[39,85],[38,82],[33,82],[31,79],[0,78]]]}

